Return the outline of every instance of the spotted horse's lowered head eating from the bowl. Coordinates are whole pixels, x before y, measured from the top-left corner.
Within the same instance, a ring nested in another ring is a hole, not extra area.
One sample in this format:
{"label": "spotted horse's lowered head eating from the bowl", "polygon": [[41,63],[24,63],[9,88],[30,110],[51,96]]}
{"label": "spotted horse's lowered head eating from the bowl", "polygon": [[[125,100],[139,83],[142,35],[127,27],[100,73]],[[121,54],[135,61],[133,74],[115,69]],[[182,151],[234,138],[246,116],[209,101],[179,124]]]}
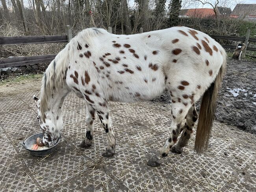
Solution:
{"label": "spotted horse's lowered head eating from the bowl", "polygon": [[43,106],[40,106],[41,100],[35,95],[33,96],[35,105],[37,107],[37,120],[39,121],[40,128],[43,131],[43,143],[49,147],[54,146],[61,135],[63,127],[63,121],[61,118],[61,110],[54,105],[47,110],[42,110]]}

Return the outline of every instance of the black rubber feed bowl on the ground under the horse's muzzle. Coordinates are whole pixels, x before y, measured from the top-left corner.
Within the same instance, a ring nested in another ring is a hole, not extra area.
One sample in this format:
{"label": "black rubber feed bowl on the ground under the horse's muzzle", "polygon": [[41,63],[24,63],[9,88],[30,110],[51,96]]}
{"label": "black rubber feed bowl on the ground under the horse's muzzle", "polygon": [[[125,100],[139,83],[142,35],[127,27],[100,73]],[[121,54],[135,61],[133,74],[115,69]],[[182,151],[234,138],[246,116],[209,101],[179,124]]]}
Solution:
{"label": "black rubber feed bowl on the ground under the horse's muzzle", "polygon": [[31,155],[36,156],[36,157],[43,157],[45,155],[52,153],[54,151],[54,149],[56,148],[56,146],[58,145],[59,140],[61,138],[61,136],[60,136],[58,142],[50,148],[47,148],[45,150],[32,150],[32,146],[34,144],[36,144],[37,137],[43,138],[43,133],[36,133],[35,135],[32,135],[29,138],[27,138],[24,142],[21,142],[21,145],[26,150],[30,151]]}

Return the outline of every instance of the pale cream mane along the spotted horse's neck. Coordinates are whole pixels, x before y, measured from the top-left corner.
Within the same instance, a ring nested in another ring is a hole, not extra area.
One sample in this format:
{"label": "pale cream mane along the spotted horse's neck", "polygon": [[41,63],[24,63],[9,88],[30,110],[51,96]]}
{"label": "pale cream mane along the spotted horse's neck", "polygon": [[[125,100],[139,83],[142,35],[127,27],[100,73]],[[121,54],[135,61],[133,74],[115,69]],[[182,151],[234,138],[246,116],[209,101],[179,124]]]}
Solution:
{"label": "pale cream mane along the spotted horse's neck", "polygon": [[[45,71],[45,74],[41,83],[41,101],[40,101],[40,111],[41,117],[44,117],[45,111],[50,108],[49,98],[54,94],[54,90],[58,90],[63,87],[65,83],[65,76],[67,72],[67,66],[72,57],[74,57],[77,52],[78,43],[80,42],[92,42],[92,37],[100,35],[102,33],[108,33],[104,29],[98,28],[88,28],[82,30],[76,37],[70,40],[70,42],[61,50],[55,57],[55,59],[50,63]],[[91,43],[92,44],[92,43]],[[84,45],[82,45],[84,46]]]}

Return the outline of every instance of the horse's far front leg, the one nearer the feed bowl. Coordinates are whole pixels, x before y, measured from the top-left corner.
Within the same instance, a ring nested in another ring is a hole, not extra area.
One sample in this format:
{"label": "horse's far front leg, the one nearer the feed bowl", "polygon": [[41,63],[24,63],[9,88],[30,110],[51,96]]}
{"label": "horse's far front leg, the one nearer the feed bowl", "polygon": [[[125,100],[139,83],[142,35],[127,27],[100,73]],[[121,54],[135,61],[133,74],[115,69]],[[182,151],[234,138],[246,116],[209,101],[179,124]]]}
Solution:
{"label": "horse's far front leg, the one nearer the feed bowl", "polygon": [[85,122],[87,124],[87,131],[85,135],[85,139],[80,144],[80,147],[86,148],[90,147],[93,141],[93,122],[95,120],[95,109],[87,102],[86,104],[86,119]]}

